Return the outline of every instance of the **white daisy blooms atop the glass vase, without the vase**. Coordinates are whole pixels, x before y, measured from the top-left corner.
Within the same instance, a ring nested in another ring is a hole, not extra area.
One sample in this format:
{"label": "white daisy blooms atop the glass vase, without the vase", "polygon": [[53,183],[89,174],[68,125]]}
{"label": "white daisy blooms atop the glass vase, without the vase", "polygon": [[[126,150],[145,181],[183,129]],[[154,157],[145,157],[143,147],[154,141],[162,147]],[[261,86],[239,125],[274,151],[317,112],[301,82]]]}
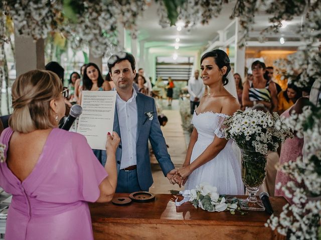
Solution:
{"label": "white daisy blooms atop the glass vase, without the vase", "polygon": [[247,109],[238,110],[225,119],[223,132],[225,138],[232,138],[242,149],[266,155],[269,150],[276,151],[280,142],[293,134],[276,113]]}

